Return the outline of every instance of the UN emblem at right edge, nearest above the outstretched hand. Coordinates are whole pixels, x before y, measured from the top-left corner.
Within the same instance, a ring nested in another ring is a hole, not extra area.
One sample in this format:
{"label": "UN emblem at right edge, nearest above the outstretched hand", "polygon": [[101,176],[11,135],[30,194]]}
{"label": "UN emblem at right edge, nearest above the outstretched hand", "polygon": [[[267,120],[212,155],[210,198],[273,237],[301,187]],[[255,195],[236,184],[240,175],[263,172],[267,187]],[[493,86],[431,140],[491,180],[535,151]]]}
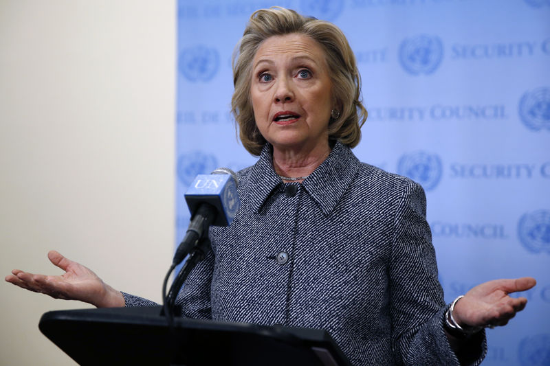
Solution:
{"label": "UN emblem at right edge, nearest above the outstretched hand", "polygon": [[533,253],[550,253],[550,211],[540,209],[521,216],[518,236],[523,247]]}

